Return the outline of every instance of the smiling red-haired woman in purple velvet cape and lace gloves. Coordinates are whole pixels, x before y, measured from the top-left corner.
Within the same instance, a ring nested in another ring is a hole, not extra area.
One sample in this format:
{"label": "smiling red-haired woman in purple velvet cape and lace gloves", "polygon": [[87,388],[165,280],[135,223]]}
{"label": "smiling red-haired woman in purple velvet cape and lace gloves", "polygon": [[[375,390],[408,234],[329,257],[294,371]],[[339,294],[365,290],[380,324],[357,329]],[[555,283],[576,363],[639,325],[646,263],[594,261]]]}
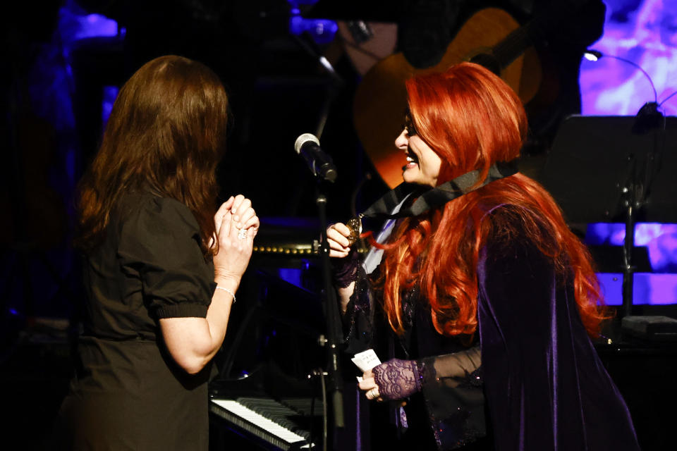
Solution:
{"label": "smiling red-haired woman in purple velvet cape and lace gloves", "polygon": [[359,265],[350,228],[327,230],[348,350],[391,358],[360,389],[404,401],[396,433],[374,440],[637,450],[590,340],[607,317],[590,255],[554,199],[514,167],[527,133],[520,99],[472,63],[406,89],[395,142],[405,184],[367,211],[396,218],[391,233]]}

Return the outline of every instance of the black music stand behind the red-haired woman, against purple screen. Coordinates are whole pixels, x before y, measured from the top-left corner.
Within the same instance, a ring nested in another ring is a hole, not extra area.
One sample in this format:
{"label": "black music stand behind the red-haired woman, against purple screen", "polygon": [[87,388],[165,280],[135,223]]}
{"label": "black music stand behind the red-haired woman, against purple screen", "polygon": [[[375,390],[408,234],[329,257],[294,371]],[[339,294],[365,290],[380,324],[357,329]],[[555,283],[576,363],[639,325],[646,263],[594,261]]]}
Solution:
{"label": "black music stand behind the red-haired woman, against purple screen", "polygon": [[541,183],[571,223],[623,222],[623,316],[633,304],[635,223],[677,222],[677,118],[641,128],[640,116],[569,116]]}

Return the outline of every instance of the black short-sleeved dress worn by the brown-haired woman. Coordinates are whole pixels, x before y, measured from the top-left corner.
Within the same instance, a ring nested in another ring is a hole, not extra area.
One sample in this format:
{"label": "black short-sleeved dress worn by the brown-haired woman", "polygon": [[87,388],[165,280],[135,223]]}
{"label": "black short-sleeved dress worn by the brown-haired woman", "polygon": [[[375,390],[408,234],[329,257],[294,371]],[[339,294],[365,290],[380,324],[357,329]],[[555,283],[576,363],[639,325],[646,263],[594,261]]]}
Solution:
{"label": "black short-sleeved dress worn by the brown-haired woman", "polygon": [[128,194],[84,266],[84,332],[56,443],[68,450],[207,450],[207,366],[189,375],[158,320],[202,317],[213,265],[188,207]]}

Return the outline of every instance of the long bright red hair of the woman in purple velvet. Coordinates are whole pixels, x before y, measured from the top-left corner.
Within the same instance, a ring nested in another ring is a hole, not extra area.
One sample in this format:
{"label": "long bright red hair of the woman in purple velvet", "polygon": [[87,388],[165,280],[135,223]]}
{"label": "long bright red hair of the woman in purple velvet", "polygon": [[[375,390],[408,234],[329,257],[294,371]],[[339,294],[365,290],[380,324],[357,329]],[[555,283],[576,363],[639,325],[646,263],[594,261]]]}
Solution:
{"label": "long bright red hair of the woman in purple velvet", "polygon": [[[512,89],[489,70],[461,63],[444,73],[412,78],[406,87],[417,135],[441,157],[439,184],[479,170],[480,185],[492,164],[519,156],[527,134],[524,108]],[[514,206],[512,225],[498,224],[487,215],[500,205]],[[400,221],[394,239],[383,246],[379,280],[391,328],[403,333],[403,293],[418,283],[439,333],[475,333],[480,249],[490,234],[515,227],[515,220],[553,259],[558,275],[573,276],[583,324],[590,335],[599,334],[607,316],[590,254],[569,230],[550,194],[521,173]]]}

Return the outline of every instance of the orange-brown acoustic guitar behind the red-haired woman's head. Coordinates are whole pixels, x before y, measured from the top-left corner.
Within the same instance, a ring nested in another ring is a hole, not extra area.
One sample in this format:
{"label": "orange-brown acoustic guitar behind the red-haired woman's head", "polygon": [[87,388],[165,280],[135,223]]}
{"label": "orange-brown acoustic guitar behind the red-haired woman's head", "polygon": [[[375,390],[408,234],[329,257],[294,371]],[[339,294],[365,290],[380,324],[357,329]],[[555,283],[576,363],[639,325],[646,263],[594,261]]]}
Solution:
{"label": "orange-brown acoustic guitar behind the red-haired woman's head", "polygon": [[441,72],[461,61],[489,67],[524,103],[533,99],[542,81],[538,55],[530,42],[532,23],[523,27],[506,11],[486,8],[465,21],[436,66],[415,68],[401,52],[372,66],[355,92],[353,120],[362,147],[389,187],[402,181],[404,155],[395,147],[406,108],[405,80]]}

